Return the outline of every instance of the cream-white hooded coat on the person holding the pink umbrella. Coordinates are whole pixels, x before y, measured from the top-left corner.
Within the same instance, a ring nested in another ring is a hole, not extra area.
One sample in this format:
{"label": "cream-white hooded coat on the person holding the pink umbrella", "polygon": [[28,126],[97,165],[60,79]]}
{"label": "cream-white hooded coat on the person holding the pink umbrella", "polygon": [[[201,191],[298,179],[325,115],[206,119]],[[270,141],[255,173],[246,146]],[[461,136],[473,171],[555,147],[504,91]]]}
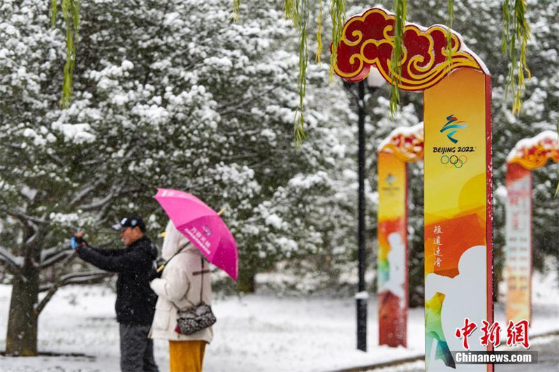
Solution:
{"label": "cream-white hooded coat on the person holding the pink umbrella", "polygon": [[[163,258],[168,260],[188,240],[182,235],[171,221],[167,224],[166,236],[163,243]],[[177,325],[177,308],[192,306],[200,302],[200,274],[202,270],[202,255],[194,246],[189,245],[170,260],[163,270],[161,278],[155,278],[151,283],[152,290],[159,296],[155,305],[155,315],[150,338],[164,338],[172,341],[202,340],[212,341],[212,327],[202,329],[190,335],[175,332]],[[208,262],[204,262],[203,301],[210,305],[212,301],[212,284]]]}

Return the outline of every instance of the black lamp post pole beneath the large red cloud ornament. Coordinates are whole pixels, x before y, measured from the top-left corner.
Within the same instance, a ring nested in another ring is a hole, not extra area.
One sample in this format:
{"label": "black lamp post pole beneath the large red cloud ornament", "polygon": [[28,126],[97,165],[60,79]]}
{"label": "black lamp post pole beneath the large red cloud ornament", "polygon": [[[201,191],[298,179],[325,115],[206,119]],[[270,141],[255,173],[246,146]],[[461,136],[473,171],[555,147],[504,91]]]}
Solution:
{"label": "black lamp post pole beneath the large red cloud ornament", "polygon": [[358,265],[357,348],[367,351],[367,296],[365,295],[365,82],[358,83]]}

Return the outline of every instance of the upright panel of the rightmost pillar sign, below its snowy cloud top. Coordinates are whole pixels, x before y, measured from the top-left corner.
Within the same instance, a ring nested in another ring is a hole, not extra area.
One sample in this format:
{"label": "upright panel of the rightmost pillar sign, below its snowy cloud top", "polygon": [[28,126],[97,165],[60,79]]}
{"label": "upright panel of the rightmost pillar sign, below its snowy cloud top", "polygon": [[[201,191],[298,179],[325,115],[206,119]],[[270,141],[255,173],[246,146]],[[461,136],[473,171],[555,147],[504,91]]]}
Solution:
{"label": "upright panel of the rightmost pillar sign, below its snowy cloud top", "polygon": [[507,169],[507,320],[530,320],[532,277],[532,172],[518,163]]}

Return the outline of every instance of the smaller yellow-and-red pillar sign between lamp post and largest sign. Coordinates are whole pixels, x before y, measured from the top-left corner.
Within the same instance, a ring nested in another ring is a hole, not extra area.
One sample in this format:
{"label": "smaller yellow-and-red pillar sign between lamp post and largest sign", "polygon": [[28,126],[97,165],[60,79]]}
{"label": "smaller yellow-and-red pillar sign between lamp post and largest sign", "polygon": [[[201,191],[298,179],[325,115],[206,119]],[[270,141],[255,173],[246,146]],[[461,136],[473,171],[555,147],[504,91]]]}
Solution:
{"label": "smaller yellow-and-red pillar sign between lamp post and largest sign", "polygon": [[420,160],[423,160],[423,124],[396,128],[379,146],[380,345],[407,345],[407,163]]}

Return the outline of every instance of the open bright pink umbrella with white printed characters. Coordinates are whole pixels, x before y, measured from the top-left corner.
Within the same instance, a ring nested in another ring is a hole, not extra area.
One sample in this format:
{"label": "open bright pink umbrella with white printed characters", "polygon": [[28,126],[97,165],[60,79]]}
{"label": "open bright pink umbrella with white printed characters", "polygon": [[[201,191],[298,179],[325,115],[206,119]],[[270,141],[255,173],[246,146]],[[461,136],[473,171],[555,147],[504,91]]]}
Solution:
{"label": "open bright pink umbrella with white printed characters", "polygon": [[216,211],[194,195],[158,188],[154,198],[161,204],[175,228],[215,266],[234,281],[239,271],[235,238]]}

